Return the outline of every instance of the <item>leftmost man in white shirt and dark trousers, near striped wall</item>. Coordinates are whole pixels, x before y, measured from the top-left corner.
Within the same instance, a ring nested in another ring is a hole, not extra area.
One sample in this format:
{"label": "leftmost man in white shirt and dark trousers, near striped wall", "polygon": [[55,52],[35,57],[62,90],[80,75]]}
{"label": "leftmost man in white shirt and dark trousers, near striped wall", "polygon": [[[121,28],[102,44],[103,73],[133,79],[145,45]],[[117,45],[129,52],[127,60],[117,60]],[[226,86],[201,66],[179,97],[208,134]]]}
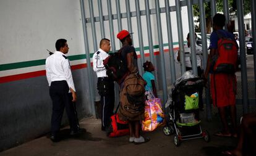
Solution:
{"label": "leftmost man in white shirt and dark trousers, near striped wall", "polygon": [[66,39],[58,39],[55,44],[56,51],[46,59],[46,77],[49,83],[49,94],[53,101],[53,113],[51,116],[51,140],[59,141],[59,129],[61,128],[61,118],[66,107],[69,118],[70,134],[78,134],[80,127],[75,110],[74,81],[70,70],[67,52],[69,46]]}

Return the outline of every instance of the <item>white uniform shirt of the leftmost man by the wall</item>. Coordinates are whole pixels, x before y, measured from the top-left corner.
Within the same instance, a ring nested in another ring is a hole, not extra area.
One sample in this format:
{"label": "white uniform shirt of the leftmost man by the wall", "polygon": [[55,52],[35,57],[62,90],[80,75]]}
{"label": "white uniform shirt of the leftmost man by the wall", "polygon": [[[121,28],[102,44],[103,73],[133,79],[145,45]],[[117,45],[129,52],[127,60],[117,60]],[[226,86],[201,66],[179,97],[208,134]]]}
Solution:
{"label": "white uniform shirt of the leftmost man by the wall", "polygon": [[46,59],[45,66],[49,86],[51,86],[52,81],[66,80],[69,88],[72,88],[75,91],[75,85],[67,55],[60,51],[56,51]]}

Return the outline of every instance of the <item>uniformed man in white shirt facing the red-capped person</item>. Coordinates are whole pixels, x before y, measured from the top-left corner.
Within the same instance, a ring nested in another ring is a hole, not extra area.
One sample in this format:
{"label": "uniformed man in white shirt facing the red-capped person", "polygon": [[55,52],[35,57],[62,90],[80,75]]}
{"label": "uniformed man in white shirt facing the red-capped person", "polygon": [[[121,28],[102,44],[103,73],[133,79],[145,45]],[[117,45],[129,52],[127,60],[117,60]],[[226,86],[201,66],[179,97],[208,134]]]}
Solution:
{"label": "uniformed man in white shirt facing the red-capped person", "polygon": [[114,110],[114,82],[109,80],[103,65],[103,60],[109,56],[110,49],[109,39],[103,38],[100,41],[100,49],[93,54],[93,70],[98,77],[97,89],[101,97],[101,130],[103,131],[109,125]]}

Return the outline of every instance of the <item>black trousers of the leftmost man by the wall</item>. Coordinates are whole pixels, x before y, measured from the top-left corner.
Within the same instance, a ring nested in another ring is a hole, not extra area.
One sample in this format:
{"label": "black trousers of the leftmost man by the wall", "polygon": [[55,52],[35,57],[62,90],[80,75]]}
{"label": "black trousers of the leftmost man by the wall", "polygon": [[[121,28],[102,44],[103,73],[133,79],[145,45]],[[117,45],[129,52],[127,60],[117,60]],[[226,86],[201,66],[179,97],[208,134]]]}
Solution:
{"label": "black trousers of the leftmost man by the wall", "polygon": [[51,115],[51,133],[58,133],[61,128],[61,119],[66,107],[67,117],[69,118],[70,129],[77,131],[79,121],[75,104],[72,102],[72,94],[69,93],[69,86],[66,81],[53,81],[49,88],[49,94],[53,101],[53,113]]}

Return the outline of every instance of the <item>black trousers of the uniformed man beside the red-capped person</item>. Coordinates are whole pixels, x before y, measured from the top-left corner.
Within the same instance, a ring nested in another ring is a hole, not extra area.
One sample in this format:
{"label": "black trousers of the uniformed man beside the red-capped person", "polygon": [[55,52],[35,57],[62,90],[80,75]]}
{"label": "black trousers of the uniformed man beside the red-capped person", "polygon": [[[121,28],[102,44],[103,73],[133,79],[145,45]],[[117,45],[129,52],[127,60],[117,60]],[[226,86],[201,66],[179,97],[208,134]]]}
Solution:
{"label": "black trousers of the uniformed man beside the red-capped person", "polygon": [[107,77],[98,78],[97,88],[101,102],[101,128],[105,129],[114,111],[114,82]]}

